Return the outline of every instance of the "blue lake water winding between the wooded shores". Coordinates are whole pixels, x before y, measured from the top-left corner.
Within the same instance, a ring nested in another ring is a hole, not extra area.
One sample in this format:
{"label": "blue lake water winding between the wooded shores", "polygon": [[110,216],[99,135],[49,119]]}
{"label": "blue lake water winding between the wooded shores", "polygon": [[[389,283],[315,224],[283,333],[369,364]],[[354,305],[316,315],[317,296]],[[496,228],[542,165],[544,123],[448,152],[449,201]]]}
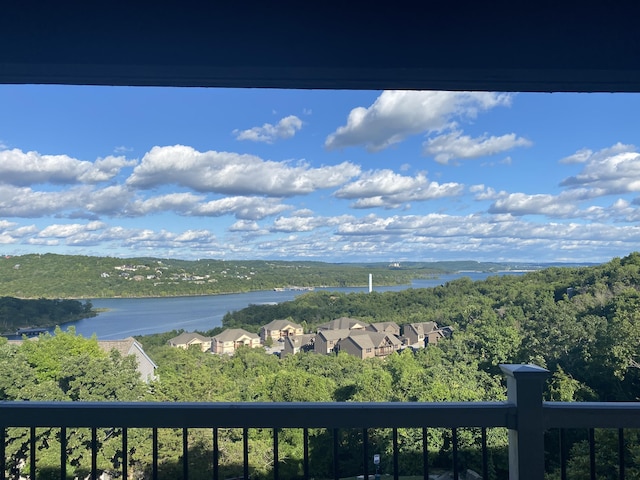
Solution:
{"label": "blue lake water winding between the wooded shores", "polygon": [[[400,291],[406,288],[428,288],[442,285],[456,278],[468,276],[483,280],[490,274],[464,272],[441,275],[438,278],[416,279],[410,285],[375,287],[374,291]],[[375,279],[375,277],[374,277]],[[368,287],[316,289],[342,293],[366,292]],[[76,333],[100,340],[114,340],[135,335],[162,333],[174,329],[206,331],[222,325],[222,317],[229,311],[241,310],[251,304],[269,304],[293,300],[304,292],[273,290],[170,298],[100,298],[92,300],[94,308],[107,309],[97,317],[66,323],[63,330],[75,327]],[[50,332],[53,328],[49,329]]]}

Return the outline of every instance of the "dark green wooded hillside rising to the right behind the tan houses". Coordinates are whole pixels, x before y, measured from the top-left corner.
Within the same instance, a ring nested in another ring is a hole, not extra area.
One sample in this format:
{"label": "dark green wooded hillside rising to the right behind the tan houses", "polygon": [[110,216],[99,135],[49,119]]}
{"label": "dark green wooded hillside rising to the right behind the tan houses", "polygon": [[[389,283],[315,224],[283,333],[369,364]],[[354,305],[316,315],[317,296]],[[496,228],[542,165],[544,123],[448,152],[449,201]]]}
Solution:
{"label": "dark green wooded hillside rising to the right behind the tan houses", "polygon": [[429,289],[313,292],[231,312],[223,325],[257,331],[271,320],[290,317],[311,331],[342,316],[451,325],[453,340],[438,344],[447,356],[495,375],[500,363],[546,367],[554,373],[553,399],[640,398],[640,253],[599,266],[548,268],[477,282],[461,278]]}

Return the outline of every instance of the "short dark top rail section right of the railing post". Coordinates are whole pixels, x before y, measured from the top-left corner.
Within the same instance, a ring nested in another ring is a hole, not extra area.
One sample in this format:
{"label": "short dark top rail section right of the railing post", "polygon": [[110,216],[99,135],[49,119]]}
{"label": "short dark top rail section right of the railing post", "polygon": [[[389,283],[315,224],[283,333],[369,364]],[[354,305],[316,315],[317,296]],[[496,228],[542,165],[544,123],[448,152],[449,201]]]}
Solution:
{"label": "short dark top rail section right of the railing post", "polygon": [[545,428],[640,428],[640,402],[544,402]]}

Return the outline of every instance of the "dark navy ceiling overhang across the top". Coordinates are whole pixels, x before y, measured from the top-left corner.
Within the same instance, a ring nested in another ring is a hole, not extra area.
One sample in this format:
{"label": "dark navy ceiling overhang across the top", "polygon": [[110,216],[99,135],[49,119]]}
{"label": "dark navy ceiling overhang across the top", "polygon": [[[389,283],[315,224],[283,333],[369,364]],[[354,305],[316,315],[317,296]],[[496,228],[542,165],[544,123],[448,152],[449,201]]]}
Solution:
{"label": "dark navy ceiling overhang across the top", "polygon": [[640,91],[640,2],[570,3],[8,1],[0,83]]}

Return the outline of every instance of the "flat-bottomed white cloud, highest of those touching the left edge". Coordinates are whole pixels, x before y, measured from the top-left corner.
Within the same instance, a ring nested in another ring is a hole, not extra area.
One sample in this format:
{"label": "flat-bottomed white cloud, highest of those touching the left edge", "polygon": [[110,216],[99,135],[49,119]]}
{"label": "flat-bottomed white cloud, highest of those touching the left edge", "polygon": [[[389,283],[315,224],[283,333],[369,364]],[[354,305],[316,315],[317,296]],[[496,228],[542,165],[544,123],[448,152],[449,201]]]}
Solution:
{"label": "flat-bottomed white cloud, highest of those touching the left edge", "polygon": [[92,163],[67,155],[41,155],[14,148],[0,150],[0,182],[16,186],[98,183],[111,180],[123,167],[135,164],[135,160],[125,157],[110,156]]}

